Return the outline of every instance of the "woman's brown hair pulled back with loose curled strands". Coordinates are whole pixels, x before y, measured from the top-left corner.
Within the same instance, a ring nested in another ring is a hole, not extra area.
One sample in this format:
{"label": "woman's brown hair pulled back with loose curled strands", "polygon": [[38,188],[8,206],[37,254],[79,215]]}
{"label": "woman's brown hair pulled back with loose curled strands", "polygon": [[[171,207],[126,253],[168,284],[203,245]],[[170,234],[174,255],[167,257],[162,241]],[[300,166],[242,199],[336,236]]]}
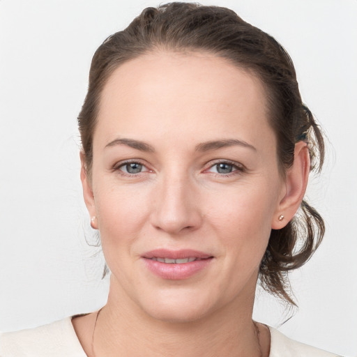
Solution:
{"label": "woman's brown hair pulled back with loose curled strands", "polygon": [[[89,176],[93,132],[107,79],[126,61],[158,50],[209,52],[259,77],[266,92],[268,120],[277,138],[280,172],[284,176],[293,164],[295,144],[301,140],[308,144],[310,170],[321,171],[323,135],[301,100],[294,64],[282,45],[228,8],[173,2],[144,9],[126,29],[109,36],[93,56],[89,89],[78,116]],[[295,305],[289,296],[288,273],[310,259],[324,230],[321,215],[303,200],[293,220],[282,229],[271,230],[259,268],[261,286]],[[103,277],[106,273],[107,266]]]}

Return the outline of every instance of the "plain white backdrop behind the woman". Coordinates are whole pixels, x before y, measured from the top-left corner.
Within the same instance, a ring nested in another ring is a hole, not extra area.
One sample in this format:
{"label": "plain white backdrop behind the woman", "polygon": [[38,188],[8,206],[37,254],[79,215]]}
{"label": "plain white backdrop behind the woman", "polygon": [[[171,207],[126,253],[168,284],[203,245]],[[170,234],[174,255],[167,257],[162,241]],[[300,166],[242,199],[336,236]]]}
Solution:
{"label": "plain white backdrop behind the woman", "polygon": [[[299,308],[287,310],[259,290],[255,319],[357,356],[357,1],[202,3],[234,9],[284,45],[329,140],[326,167],[307,190],[326,237],[291,275]],[[158,4],[0,0],[0,331],[105,304],[108,279],[100,279],[103,258],[91,246],[97,237],[82,202],[76,119],[93,52]]]}

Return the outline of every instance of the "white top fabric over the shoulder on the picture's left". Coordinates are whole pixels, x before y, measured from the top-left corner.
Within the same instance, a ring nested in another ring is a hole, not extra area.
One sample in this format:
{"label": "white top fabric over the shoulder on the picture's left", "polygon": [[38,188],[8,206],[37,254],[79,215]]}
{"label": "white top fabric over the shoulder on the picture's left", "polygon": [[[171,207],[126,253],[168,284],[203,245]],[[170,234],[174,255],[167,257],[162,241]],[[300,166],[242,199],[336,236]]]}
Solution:
{"label": "white top fabric over the shoulder on the picture's left", "polygon": [[0,333],[1,357],[86,357],[71,317],[44,326]]}

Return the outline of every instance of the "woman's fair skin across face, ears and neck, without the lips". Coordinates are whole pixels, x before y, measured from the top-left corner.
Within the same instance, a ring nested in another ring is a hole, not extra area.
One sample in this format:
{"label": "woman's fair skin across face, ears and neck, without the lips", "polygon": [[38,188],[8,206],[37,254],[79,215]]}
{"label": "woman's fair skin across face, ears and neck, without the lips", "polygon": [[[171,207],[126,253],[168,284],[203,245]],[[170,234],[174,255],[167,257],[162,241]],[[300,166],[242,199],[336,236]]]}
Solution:
{"label": "woman's fair skin across face, ears and neck, without the lips", "polygon": [[[227,145],[232,139],[244,144]],[[203,144],[217,141],[225,145]],[[258,340],[252,323],[259,264],[271,229],[296,213],[310,163],[300,142],[280,175],[259,79],[202,52],[128,61],[102,93],[91,176],[81,160],[84,199],[112,271],[96,356],[260,356],[259,348],[268,356],[268,329],[259,325]],[[125,160],[142,172],[128,175]],[[218,173],[222,162],[230,173]],[[213,259],[190,278],[167,280],[143,264],[157,248]],[[88,356],[95,318],[73,319]]]}

